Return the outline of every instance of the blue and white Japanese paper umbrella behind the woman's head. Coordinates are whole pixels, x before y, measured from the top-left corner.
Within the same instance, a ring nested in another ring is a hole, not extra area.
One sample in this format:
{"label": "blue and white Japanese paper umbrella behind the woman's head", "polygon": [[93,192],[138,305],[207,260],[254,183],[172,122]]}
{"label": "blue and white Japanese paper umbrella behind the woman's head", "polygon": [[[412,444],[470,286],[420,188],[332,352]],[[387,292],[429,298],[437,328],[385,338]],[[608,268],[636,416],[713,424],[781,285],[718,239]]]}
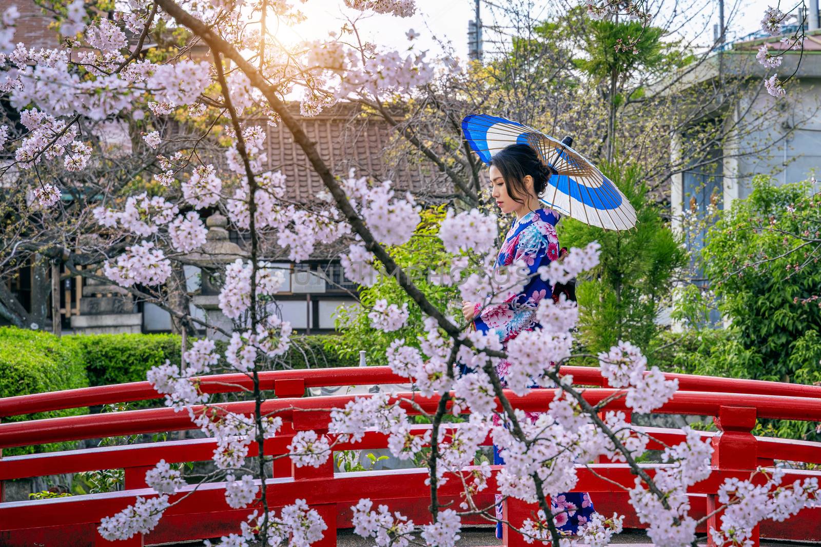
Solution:
{"label": "blue and white Japanese paper umbrella behind the woman's head", "polygon": [[635,226],[635,209],[599,168],[561,141],[518,121],[488,114],[470,114],[462,120],[465,139],[479,158],[490,163],[494,153],[510,144],[530,144],[553,175],[539,200],[568,217],[608,230]]}

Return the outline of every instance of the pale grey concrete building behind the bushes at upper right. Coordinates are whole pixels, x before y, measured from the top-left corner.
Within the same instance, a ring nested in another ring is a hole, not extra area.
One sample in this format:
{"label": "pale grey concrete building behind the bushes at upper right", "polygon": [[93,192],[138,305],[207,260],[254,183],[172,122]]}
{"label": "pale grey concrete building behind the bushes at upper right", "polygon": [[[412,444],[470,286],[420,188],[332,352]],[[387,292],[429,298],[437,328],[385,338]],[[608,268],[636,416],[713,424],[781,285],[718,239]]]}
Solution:
{"label": "pale grey concrete building behind the bushes at upper right", "polygon": [[[771,175],[780,184],[821,176],[821,30],[806,30],[804,52],[785,52],[782,66],[768,73],[755,55],[764,43],[771,52],[783,48],[780,39],[753,34],[728,44],[684,81],[702,84],[721,74],[744,79],[749,93],[726,116],[724,123],[734,129],[722,148],[711,152],[715,161],[672,176],[670,201],[677,228],[688,211],[705,212],[710,203],[729,207],[734,199],[749,196],[754,175]],[[764,89],[764,76],[776,72],[781,79],[794,74],[786,97],[774,98]],[[708,108],[701,121],[726,114]],[[674,139],[672,155],[687,157],[681,139]],[[689,244],[698,247],[698,239]]]}

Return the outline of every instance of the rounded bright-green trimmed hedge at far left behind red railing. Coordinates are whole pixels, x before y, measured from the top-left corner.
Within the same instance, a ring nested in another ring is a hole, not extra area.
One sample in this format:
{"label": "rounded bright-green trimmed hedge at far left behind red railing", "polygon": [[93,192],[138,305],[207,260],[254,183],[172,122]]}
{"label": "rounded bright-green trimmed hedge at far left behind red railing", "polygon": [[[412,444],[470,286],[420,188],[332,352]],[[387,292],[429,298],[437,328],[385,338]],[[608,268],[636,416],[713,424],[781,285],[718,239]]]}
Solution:
{"label": "rounded bright-green trimmed hedge at far left behind red railing", "polygon": [[[0,327],[0,397],[88,387],[83,354],[76,344],[37,330]],[[2,422],[21,422],[48,417],[77,416],[87,408],[55,410],[24,416],[3,417]],[[3,449],[4,456],[66,450],[76,442],[38,444]]]}

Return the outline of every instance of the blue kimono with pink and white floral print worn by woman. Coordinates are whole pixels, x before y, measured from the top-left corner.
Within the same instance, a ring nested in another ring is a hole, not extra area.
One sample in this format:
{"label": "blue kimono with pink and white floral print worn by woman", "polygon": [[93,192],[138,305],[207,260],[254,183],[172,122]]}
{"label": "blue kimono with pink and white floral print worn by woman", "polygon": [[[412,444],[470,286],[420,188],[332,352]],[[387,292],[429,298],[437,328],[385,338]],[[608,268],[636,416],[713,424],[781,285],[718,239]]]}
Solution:
{"label": "blue kimono with pink and white floral print worn by woman", "polygon": [[[514,260],[521,259],[529,267],[530,275],[533,275],[539,267],[557,260],[559,241],[556,223],[559,218],[559,214],[553,209],[540,208],[517,220],[507,232],[495,267],[508,266]],[[520,332],[542,328],[534,320],[535,308],[541,299],[552,296],[553,288],[538,275],[532,276],[521,294],[512,294],[502,303],[488,303],[490,296],[484,303],[477,303],[474,308],[476,330],[495,330],[507,348],[507,340],[516,338]],[[511,363],[507,359],[500,361],[496,367],[502,385],[506,385],[505,376],[510,367]],[[505,463],[499,456],[496,445],[493,445],[493,463]],[[497,495],[496,501],[496,517],[501,519],[502,496]],[[568,492],[551,498],[550,501],[557,528],[568,535],[575,535],[579,526],[587,522],[594,513],[593,503],[586,492]],[[501,522],[496,526],[496,537],[502,537]]]}

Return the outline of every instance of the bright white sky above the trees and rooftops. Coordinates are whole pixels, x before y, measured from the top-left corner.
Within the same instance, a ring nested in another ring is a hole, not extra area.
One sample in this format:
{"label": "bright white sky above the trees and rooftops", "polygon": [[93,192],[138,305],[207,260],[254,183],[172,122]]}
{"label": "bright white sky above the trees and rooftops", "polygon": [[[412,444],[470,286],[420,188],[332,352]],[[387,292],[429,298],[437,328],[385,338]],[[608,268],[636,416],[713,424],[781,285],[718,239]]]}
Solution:
{"label": "bright white sky above the trees and rooftops", "polygon": [[[741,4],[737,16],[734,16],[728,28],[728,39],[759,29],[759,21],[764,10],[769,5],[776,5],[776,2],[768,2],[768,0],[745,0],[744,2],[726,0],[726,2],[725,11],[727,13],[732,10],[734,3]],[[533,3],[536,7],[559,5],[557,0],[534,1]],[[692,5],[689,0],[682,3]],[[718,5],[717,1],[713,3]],[[415,50],[427,49],[429,57],[435,57],[443,51],[438,41],[449,41],[452,43],[456,56],[466,59],[468,21],[474,17],[473,0],[416,0],[416,7],[415,15],[404,19],[386,15],[368,16],[361,19],[357,23],[357,28],[362,34],[362,39],[402,51],[409,45],[406,32],[413,29],[420,34],[419,38],[414,41]],[[327,38],[328,30],[338,29],[342,25],[343,12],[349,15],[360,14],[358,11],[344,7],[341,0],[308,0],[300,5],[300,10],[308,16],[308,21],[296,29],[281,29],[277,36],[280,36],[283,41],[298,41],[300,38]],[[483,5],[482,10],[483,23],[488,25],[491,22],[488,8]],[[714,20],[712,22],[718,22],[718,8],[713,11],[716,15],[712,17]],[[702,28],[703,23],[699,22],[698,26]],[[488,36],[488,34],[486,30],[485,35]],[[710,31],[709,36],[704,36],[701,41],[706,42],[712,37],[713,34]],[[485,48],[488,48],[488,44],[485,44]]]}

